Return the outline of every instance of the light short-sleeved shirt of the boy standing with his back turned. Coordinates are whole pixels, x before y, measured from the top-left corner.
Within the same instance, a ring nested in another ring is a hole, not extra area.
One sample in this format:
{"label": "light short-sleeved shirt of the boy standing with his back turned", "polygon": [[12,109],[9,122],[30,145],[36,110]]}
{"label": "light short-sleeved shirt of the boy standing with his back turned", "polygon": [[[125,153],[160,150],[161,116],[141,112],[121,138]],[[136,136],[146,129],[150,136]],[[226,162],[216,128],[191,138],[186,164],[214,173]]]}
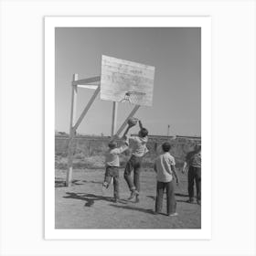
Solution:
{"label": "light short-sleeved shirt of the boy standing with his back turned", "polygon": [[160,182],[170,182],[173,179],[171,166],[176,165],[174,156],[165,152],[155,159],[156,179]]}

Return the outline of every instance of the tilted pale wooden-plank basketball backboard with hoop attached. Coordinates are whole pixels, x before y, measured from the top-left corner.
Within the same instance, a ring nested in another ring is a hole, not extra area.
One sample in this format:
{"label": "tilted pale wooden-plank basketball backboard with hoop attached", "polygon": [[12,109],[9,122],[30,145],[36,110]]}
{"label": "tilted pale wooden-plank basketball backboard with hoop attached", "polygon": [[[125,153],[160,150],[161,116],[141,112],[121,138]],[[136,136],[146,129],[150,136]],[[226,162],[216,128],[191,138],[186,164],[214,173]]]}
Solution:
{"label": "tilted pale wooden-plank basketball backboard with hoop attached", "polygon": [[102,55],[101,100],[151,106],[155,67]]}

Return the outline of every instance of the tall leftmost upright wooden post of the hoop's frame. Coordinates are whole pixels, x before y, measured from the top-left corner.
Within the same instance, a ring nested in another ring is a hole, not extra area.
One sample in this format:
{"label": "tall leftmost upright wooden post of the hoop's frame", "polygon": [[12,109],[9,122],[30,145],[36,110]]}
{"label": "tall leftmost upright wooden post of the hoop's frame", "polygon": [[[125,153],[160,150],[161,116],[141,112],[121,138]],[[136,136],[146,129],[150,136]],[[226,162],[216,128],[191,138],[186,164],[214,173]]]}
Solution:
{"label": "tall leftmost upright wooden post of the hoop's frame", "polygon": [[[73,81],[78,80],[78,74],[73,75]],[[76,134],[76,129],[73,128],[76,121],[77,112],[77,85],[72,85],[72,96],[71,96],[71,113],[70,113],[70,124],[69,124],[69,147],[68,147],[68,170],[66,176],[66,186],[71,187],[72,172],[73,172],[73,140]]]}

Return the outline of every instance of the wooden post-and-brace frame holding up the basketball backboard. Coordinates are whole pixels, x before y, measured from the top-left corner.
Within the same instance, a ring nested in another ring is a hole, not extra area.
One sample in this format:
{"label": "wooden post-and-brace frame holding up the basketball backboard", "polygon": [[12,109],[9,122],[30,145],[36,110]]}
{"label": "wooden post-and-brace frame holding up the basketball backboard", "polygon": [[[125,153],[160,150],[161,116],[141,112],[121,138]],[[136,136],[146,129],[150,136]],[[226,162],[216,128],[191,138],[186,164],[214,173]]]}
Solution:
{"label": "wooden post-and-brace frame holding up the basketball backboard", "polygon": [[[68,170],[66,176],[66,186],[71,187],[72,183],[72,173],[73,173],[73,155],[74,155],[74,138],[77,132],[80,123],[84,119],[85,115],[91,108],[92,103],[95,101],[99,92],[101,91],[101,76],[91,77],[88,79],[79,80],[78,74],[73,74],[73,80],[71,83],[72,93],[71,93],[71,112],[70,112],[70,124],[69,124],[69,145],[68,145]],[[91,96],[90,101],[85,106],[84,110],[81,112],[80,117],[76,118],[77,112],[77,96],[78,96],[78,88],[82,89],[92,89],[95,90],[93,95]],[[128,122],[128,119],[133,117],[134,113],[138,111],[140,105],[135,105],[132,112],[125,119],[123,124],[120,126],[118,131],[116,132],[116,117],[117,117],[117,108],[118,102],[113,101],[112,105],[112,137],[119,136],[120,133],[123,132],[125,125]]]}

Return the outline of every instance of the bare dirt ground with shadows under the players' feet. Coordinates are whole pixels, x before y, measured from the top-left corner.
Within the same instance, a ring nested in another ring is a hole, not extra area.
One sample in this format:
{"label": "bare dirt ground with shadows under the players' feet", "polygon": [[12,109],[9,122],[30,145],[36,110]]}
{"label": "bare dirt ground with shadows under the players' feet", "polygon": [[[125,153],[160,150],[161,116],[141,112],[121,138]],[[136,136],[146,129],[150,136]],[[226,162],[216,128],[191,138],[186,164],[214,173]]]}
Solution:
{"label": "bare dirt ground with shadows under the players' feet", "polygon": [[187,175],[178,173],[180,185],[176,187],[177,217],[168,217],[166,200],[163,214],[154,215],[155,172],[141,173],[140,202],[127,201],[130,191],[120,170],[120,196],[112,201],[113,187],[102,194],[102,169],[73,171],[71,189],[64,187],[66,171],[56,170],[55,227],[56,229],[200,229],[201,207],[187,200]]}

